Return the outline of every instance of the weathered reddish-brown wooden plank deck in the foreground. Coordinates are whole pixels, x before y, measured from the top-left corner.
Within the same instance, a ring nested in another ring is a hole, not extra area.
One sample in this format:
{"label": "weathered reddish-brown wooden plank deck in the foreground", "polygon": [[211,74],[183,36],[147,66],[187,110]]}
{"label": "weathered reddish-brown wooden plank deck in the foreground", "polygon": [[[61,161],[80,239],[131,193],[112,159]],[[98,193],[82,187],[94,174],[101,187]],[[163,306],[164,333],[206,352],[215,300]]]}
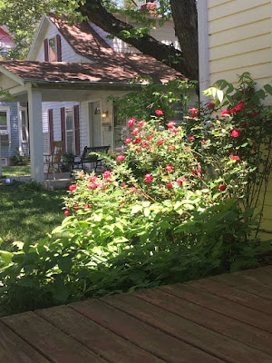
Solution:
{"label": "weathered reddish-brown wooden plank deck in the foreground", "polygon": [[272,266],[0,319],[0,363],[271,363]]}

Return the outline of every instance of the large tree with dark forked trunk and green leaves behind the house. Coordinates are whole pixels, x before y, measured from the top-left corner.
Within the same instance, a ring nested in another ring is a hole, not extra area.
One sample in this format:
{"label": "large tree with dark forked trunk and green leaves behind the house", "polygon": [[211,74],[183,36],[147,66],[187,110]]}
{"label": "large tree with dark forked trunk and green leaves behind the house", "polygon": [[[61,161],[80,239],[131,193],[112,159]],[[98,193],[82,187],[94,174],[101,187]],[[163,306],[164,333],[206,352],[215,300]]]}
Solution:
{"label": "large tree with dark forked trunk and green leaves behind the house", "polygon": [[[190,79],[199,78],[198,27],[196,0],[160,0],[158,12],[152,17],[139,10],[138,0],[126,0],[122,4],[115,0],[0,0],[0,25],[7,25],[15,33],[19,52],[33,40],[34,31],[41,15],[54,10],[59,14],[88,18],[109,34],[118,36],[142,53],[170,65]],[[24,7],[22,7],[24,5]],[[18,9],[21,9],[18,11]],[[116,13],[129,15],[135,26],[121,21]],[[173,45],[162,44],[149,33],[157,17],[160,23],[172,15],[176,35],[182,52]],[[25,52],[21,52],[24,58]],[[13,52],[12,56],[19,56]]]}

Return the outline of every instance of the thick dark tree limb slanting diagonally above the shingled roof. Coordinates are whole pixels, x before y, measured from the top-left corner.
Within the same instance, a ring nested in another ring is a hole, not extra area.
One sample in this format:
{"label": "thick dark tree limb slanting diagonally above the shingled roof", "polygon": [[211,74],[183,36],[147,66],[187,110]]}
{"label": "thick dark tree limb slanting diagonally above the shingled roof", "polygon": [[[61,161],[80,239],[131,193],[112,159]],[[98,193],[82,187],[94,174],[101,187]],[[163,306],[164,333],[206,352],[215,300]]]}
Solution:
{"label": "thick dark tree limb slanting diagonally above the shingled roof", "polygon": [[[175,0],[176,3],[179,3],[181,0]],[[181,3],[191,2],[192,0],[182,0]],[[194,1],[194,0],[193,0]],[[173,3],[175,3],[173,2]],[[176,5],[177,6],[177,5]],[[183,6],[186,7],[186,6]],[[193,8],[190,8],[192,10]],[[175,11],[179,10],[179,6],[175,7]],[[196,10],[196,8],[195,8]],[[86,0],[84,5],[81,5],[79,11],[82,15],[87,16],[88,19],[95,25],[99,26],[105,32],[109,34],[116,34],[122,41],[131,44],[135,48],[141,51],[143,54],[151,55],[160,62],[164,64],[168,64],[171,68],[179,71],[181,74],[189,77],[189,79],[198,79],[198,68],[195,69],[195,65],[198,62],[193,62],[191,58],[189,58],[189,62],[184,57],[184,52],[181,53],[179,50],[175,49],[171,45],[162,44],[160,41],[157,41],[151,35],[144,35],[141,38],[135,37],[125,37],[121,35],[121,31],[128,30],[131,31],[133,26],[125,23],[119,19],[117,19],[114,15],[109,13],[105,7],[102,5],[102,0]],[[175,16],[178,16],[177,13]],[[181,17],[181,16],[180,16]],[[191,21],[193,20],[193,16],[190,15]],[[197,15],[195,17],[197,19]],[[177,28],[176,28],[177,29]],[[189,31],[192,29],[197,30],[197,26],[191,26],[187,30],[187,36],[189,36]],[[181,35],[177,33],[179,40],[183,41]],[[192,36],[189,36],[190,41],[192,41]],[[198,38],[197,38],[198,39]],[[184,41],[183,41],[184,42]],[[188,42],[189,43],[189,42]],[[185,44],[185,42],[184,42]],[[194,44],[194,49],[197,48],[198,45]],[[187,54],[187,53],[185,53]],[[197,56],[197,53],[195,54]],[[192,72],[193,71],[193,72]]]}

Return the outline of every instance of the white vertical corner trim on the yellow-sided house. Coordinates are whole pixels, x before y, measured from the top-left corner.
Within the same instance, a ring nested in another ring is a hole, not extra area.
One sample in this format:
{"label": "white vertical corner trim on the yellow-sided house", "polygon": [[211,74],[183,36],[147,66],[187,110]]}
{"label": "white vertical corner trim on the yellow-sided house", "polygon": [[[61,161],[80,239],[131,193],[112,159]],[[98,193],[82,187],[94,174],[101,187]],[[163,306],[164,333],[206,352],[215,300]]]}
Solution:
{"label": "white vertical corner trim on the yellow-sided house", "polygon": [[207,0],[198,1],[199,27],[199,98],[207,102],[202,91],[209,88],[209,23]]}

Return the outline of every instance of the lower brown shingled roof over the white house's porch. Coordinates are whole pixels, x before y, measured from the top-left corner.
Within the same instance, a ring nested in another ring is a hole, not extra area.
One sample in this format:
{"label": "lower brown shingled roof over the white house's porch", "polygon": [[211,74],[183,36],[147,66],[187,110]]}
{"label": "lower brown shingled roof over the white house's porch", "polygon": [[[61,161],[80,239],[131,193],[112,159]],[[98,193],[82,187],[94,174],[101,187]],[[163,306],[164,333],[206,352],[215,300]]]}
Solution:
{"label": "lower brown shingled roof over the white house's porch", "polygon": [[[109,57],[110,58],[110,57]],[[100,60],[95,64],[64,62],[0,61],[7,71],[26,82],[130,83],[132,78],[149,75],[156,83],[166,83],[182,74],[141,54]]]}

